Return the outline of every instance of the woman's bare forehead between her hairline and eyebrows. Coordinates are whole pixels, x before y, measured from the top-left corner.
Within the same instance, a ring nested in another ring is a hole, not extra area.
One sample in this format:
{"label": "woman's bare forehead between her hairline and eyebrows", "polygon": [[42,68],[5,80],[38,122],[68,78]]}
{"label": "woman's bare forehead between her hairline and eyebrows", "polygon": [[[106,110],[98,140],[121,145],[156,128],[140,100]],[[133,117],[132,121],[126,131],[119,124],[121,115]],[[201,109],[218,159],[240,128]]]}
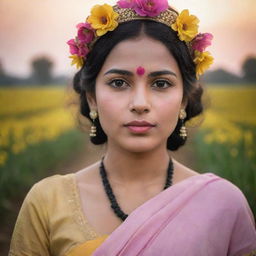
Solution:
{"label": "woman's bare forehead between her hairline and eyebrows", "polygon": [[110,68],[149,70],[171,69],[179,74],[176,60],[160,41],[141,36],[117,44],[107,56],[101,72]]}

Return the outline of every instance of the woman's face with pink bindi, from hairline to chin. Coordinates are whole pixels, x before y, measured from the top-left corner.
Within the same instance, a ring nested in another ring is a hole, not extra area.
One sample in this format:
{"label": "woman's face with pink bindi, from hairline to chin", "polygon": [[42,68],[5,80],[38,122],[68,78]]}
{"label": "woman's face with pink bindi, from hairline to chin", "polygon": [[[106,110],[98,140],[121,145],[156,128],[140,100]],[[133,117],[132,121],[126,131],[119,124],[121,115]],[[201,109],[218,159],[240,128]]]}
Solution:
{"label": "woman's face with pink bindi, from hairline to chin", "polygon": [[130,152],[166,148],[184,107],[174,57],[161,42],[146,36],[113,48],[97,76],[95,95],[96,101],[92,97],[88,101],[98,111],[108,147]]}

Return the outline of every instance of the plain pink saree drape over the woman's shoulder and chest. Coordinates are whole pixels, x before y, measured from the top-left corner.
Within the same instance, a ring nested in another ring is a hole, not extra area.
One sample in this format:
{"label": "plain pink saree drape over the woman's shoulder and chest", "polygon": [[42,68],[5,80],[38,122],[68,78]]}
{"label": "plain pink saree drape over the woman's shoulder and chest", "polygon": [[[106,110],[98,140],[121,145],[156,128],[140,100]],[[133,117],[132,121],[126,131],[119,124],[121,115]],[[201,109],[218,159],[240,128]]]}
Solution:
{"label": "plain pink saree drape over the woman's shoulder and chest", "polygon": [[93,256],[256,255],[243,193],[213,173],[192,176],[133,211]]}

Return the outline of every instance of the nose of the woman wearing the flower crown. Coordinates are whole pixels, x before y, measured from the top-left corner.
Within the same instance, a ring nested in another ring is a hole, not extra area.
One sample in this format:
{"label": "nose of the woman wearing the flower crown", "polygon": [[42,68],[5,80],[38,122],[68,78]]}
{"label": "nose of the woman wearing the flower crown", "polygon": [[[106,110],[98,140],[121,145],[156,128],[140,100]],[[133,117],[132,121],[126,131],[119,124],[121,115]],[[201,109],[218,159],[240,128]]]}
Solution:
{"label": "nose of the woman wearing the flower crown", "polygon": [[138,114],[142,114],[144,112],[148,113],[150,111],[150,95],[146,88],[138,86],[134,89],[131,95],[129,109],[131,112],[136,112]]}

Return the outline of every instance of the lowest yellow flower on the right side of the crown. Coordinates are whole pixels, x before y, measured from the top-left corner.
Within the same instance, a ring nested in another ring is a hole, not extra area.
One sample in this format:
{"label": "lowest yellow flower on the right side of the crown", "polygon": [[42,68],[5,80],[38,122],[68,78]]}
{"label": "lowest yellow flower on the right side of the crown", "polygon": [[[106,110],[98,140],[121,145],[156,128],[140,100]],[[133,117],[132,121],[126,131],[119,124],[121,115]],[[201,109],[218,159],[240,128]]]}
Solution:
{"label": "lowest yellow flower on the right side of the crown", "polygon": [[213,63],[214,58],[209,52],[199,52],[195,50],[194,62],[196,64],[196,77],[201,76]]}

